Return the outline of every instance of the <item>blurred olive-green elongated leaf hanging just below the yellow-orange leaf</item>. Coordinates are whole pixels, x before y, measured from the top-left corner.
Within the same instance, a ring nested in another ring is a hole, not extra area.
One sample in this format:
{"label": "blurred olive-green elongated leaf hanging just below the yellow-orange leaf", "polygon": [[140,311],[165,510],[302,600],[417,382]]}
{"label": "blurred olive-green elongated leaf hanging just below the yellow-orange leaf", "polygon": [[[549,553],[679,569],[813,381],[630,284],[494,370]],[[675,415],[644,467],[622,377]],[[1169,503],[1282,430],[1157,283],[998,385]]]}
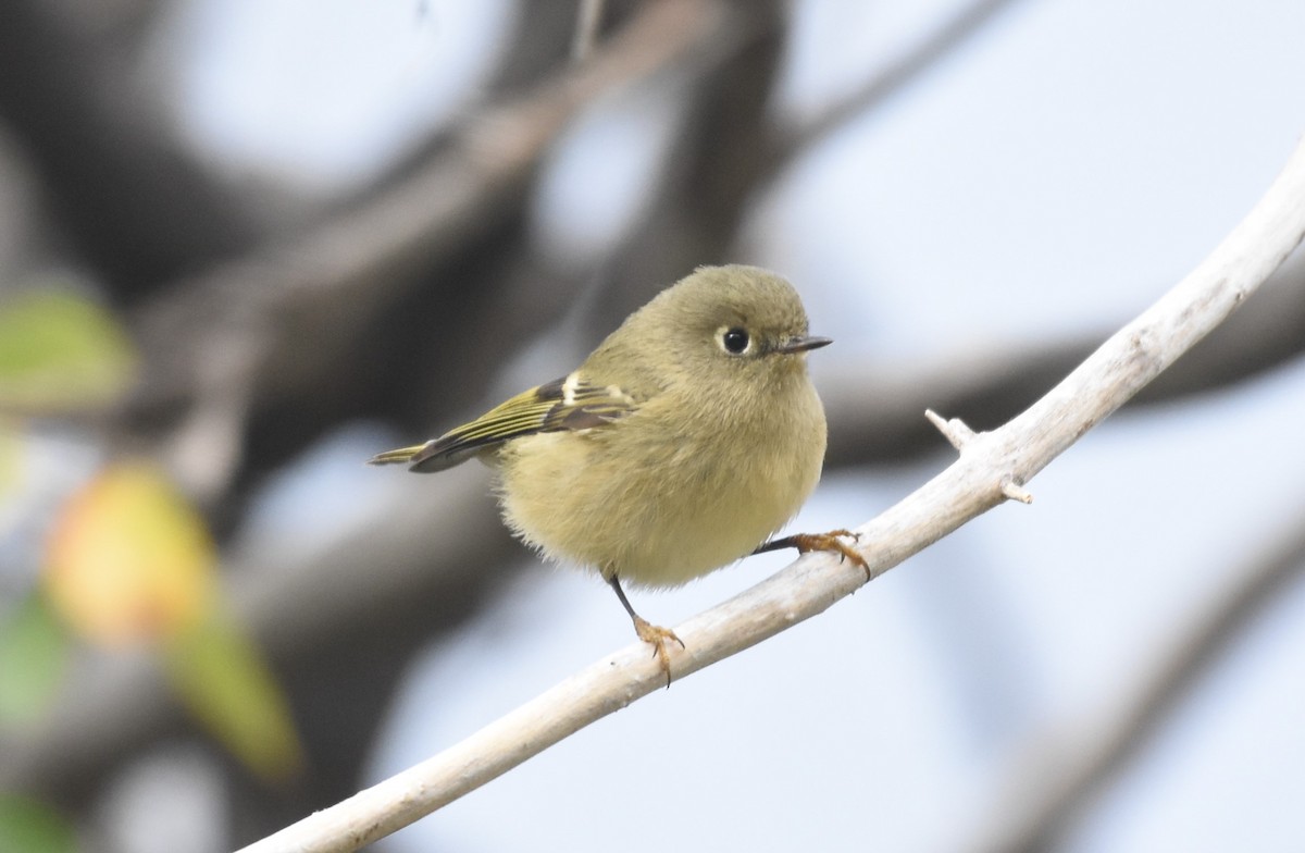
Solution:
{"label": "blurred olive-green elongated leaf hanging just below the yellow-orange leaf", "polygon": [[164,660],[191,713],[245,767],[274,782],[299,773],[303,748],[290,705],[236,624],[213,613],[168,644]]}

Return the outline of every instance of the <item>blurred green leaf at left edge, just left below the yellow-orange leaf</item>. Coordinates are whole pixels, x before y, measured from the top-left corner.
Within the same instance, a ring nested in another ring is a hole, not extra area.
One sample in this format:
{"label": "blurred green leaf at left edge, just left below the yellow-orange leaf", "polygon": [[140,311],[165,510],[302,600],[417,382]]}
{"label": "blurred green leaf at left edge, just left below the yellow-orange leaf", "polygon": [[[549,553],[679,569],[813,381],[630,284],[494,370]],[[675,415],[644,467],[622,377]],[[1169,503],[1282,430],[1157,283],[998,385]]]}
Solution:
{"label": "blurred green leaf at left edge, just left below the yellow-orange leaf", "polygon": [[0,618],[0,728],[39,720],[63,683],[67,662],[68,635],[39,593]]}

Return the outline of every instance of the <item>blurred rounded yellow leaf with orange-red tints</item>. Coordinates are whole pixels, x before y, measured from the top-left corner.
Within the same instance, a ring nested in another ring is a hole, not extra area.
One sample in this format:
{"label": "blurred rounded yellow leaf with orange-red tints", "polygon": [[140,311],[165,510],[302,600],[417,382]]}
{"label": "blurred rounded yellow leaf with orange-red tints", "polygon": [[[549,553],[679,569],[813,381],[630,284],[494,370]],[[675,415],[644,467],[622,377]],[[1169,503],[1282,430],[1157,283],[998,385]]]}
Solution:
{"label": "blurred rounded yellow leaf with orange-red tints", "polygon": [[115,464],[73,495],[51,533],[44,581],[55,610],[91,643],[177,636],[214,600],[202,520],[155,468]]}

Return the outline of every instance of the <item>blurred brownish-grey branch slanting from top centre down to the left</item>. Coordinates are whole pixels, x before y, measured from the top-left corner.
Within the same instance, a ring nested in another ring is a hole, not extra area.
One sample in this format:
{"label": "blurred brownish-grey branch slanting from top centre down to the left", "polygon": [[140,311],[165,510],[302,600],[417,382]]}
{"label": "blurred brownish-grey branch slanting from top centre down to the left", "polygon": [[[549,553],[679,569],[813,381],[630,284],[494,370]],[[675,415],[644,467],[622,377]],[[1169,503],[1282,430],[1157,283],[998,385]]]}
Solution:
{"label": "blurred brownish-grey branch slanting from top centre down to the left", "polygon": [[[184,451],[202,439],[226,459],[179,452],[168,461],[191,494],[219,495],[240,459],[243,413],[291,388],[338,385],[330,366],[359,347],[365,320],[424,283],[415,269],[452,256],[514,208],[548,146],[586,105],[703,44],[709,56],[728,54],[748,38],[745,24],[723,3],[651,4],[589,61],[465,121],[393,189],[167,290],[134,317],[145,375],[129,417],[147,422],[151,413],[193,404],[198,417],[170,445]],[[218,409],[224,417],[206,417]]]}

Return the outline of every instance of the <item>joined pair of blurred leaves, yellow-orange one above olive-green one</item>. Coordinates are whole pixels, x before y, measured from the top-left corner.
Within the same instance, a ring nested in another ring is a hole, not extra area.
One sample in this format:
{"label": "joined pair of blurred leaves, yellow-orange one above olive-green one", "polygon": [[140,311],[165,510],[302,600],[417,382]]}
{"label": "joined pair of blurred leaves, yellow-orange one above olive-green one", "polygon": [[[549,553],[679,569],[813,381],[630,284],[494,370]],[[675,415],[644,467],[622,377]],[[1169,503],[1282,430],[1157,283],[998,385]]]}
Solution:
{"label": "joined pair of blurred leaves, yellow-orange one above olive-green one", "polygon": [[116,462],[64,504],[44,587],[93,645],[147,644],[191,712],[268,780],[300,764],[288,704],[253,643],[226,617],[217,550],[200,515],[163,473]]}

